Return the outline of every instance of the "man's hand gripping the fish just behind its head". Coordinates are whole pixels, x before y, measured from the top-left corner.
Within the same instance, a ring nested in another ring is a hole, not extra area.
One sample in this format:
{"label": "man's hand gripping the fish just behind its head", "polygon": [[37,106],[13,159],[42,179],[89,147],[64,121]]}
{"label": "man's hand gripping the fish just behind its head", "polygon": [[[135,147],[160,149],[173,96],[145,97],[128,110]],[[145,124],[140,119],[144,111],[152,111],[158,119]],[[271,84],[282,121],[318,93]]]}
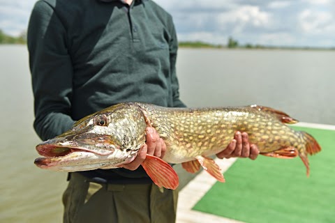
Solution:
{"label": "man's hand gripping the fish just behind its head", "polygon": [[156,130],[152,127],[147,127],[145,132],[147,133],[147,141],[137,152],[135,160],[128,164],[122,164],[121,167],[135,170],[140,167],[140,164],[142,164],[142,162],[145,160],[147,154],[163,158],[166,151],[166,145],[163,139],[159,137],[158,132],[156,132]]}

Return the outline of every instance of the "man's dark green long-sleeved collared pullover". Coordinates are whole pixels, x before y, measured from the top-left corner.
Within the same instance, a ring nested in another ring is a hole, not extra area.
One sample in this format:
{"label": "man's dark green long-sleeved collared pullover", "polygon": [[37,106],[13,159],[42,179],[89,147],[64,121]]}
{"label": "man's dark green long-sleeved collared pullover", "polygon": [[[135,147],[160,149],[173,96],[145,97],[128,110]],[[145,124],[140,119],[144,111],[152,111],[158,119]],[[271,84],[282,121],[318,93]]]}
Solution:
{"label": "man's dark green long-sleeved collared pullover", "polygon": [[[37,1],[28,29],[41,139],[119,102],[185,107],[176,77],[172,17],[153,1]],[[115,175],[117,173],[117,175]],[[87,173],[84,173],[87,174]],[[89,171],[91,177],[144,176],[143,170]]]}

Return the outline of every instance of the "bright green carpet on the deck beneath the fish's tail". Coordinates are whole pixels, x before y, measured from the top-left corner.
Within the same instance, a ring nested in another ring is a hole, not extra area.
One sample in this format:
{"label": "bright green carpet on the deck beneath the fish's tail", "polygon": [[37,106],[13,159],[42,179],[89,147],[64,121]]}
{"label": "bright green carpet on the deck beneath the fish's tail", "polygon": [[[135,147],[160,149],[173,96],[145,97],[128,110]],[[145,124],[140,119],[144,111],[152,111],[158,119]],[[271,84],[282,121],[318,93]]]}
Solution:
{"label": "bright green carpet on the deck beneath the fish's tail", "polygon": [[335,131],[294,129],[322,147],[309,156],[309,178],[299,157],[239,159],[225,172],[226,183],[211,187],[193,210],[242,222],[335,222]]}

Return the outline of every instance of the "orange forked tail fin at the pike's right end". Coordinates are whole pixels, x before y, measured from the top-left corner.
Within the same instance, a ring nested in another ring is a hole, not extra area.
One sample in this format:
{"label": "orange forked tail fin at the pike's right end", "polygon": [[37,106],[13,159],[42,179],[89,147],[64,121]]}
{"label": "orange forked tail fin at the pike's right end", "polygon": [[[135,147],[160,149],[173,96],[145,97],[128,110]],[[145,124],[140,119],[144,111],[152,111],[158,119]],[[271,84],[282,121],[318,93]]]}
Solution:
{"label": "orange forked tail fin at the pike's right end", "polygon": [[301,158],[302,162],[304,162],[306,166],[306,174],[309,176],[309,162],[307,154],[314,155],[315,153],[318,153],[321,151],[321,147],[318,144],[318,141],[314,139],[314,137],[311,136],[311,134],[308,134],[307,132],[300,132],[301,137],[305,141],[305,146],[303,148],[299,148],[299,157]]}

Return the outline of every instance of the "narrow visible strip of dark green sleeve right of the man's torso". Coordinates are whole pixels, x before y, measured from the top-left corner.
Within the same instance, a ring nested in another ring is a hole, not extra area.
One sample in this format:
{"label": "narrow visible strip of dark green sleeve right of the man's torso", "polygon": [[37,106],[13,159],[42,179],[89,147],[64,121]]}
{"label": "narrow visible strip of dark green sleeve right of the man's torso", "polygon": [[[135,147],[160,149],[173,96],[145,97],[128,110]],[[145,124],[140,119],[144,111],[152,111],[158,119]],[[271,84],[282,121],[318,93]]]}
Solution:
{"label": "narrow visible strip of dark green sleeve right of the man's torso", "polygon": [[177,33],[171,18],[171,40],[170,40],[170,66],[171,66],[171,88],[173,107],[186,107],[184,102],[179,99],[179,82],[176,74],[176,61],[178,51]]}

